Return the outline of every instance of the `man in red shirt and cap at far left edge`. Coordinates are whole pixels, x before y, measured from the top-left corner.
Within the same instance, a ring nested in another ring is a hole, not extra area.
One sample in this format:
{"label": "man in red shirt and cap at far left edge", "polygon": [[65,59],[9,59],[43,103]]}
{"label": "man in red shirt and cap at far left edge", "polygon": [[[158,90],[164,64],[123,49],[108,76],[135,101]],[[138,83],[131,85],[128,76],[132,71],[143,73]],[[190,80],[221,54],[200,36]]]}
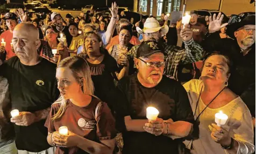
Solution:
{"label": "man in red shirt and cap at far left edge", "polygon": [[5,46],[0,46],[0,52],[6,51],[6,60],[15,56],[14,50],[12,50],[12,32],[15,26],[18,24],[18,16],[15,13],[8,12],[2,18],[6,21],[6,25],[9,30],[3,32],[0,35],[0,41],[5,42]]}

